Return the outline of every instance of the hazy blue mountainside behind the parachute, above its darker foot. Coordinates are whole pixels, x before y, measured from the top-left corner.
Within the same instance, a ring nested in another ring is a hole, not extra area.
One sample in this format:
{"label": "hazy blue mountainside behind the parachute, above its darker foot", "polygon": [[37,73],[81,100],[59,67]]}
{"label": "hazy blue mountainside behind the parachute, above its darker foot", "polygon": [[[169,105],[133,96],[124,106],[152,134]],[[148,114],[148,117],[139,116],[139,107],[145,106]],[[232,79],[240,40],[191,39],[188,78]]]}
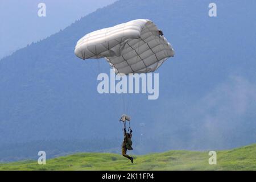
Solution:
{"label": "hazy blue mountainside behind the parachute, above its darker foot", "polygon": [[209,3],[118,1],[2,59],[0,143],[122,140],[122,97],[97,93],[97,74],[109,73],[109,65],[103,59],[81,61],[73,51],[88,32],[139,18],[155,22],[176,55],[156,72],[158,100],[127,96],[135,143],[141,133],[144,140],[155,139],[143,144],[142,138],[138,152],[255,142],[255,2],[241,7],[238,1],[216,1],[216,19],[208,17]]}

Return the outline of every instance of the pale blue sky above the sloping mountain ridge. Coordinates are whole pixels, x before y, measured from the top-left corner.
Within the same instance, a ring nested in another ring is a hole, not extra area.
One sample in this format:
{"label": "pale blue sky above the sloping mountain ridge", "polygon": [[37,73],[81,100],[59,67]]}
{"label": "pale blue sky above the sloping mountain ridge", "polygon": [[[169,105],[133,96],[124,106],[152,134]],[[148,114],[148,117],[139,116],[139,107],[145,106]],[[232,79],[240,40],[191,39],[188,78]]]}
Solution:
{"label": "pale blue sky above the sloping mountain ridge", "polygon": [[[47,16],[44,18],[38,16],[40,2],[46,3]],[[0,59],[113,2],[115,0],[0,1]]]}

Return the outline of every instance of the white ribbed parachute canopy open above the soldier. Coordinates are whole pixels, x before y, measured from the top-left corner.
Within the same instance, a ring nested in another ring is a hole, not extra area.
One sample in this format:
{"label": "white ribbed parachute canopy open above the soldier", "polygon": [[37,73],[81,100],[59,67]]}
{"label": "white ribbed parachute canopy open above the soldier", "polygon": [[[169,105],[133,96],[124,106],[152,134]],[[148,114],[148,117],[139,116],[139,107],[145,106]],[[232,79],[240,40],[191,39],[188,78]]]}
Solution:
{"label": "white ribbed parachute canopy open above the soldier", "polygon": [[162,31],[148,19],[137,19],[117,26],[90,32],[76,44],[81,59],[104,57],[115,73],[154,72],[174,49]]}

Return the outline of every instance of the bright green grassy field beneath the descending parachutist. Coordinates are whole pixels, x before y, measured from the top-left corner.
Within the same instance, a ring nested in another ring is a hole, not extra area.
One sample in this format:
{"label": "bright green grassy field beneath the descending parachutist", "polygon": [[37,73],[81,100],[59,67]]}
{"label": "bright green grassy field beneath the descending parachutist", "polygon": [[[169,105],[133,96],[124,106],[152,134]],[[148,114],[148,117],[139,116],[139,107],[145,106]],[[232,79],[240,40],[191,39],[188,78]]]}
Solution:
{"label": "bright green grassy field beneath the descending parachutist", "polygon": [[216,151],[217,164],[209,165],[208,151],[168,151],[138,155],[134,163],[118,154],[82,153],[47,160],[0,164],[0,170],[256,170],[256,144]]}

